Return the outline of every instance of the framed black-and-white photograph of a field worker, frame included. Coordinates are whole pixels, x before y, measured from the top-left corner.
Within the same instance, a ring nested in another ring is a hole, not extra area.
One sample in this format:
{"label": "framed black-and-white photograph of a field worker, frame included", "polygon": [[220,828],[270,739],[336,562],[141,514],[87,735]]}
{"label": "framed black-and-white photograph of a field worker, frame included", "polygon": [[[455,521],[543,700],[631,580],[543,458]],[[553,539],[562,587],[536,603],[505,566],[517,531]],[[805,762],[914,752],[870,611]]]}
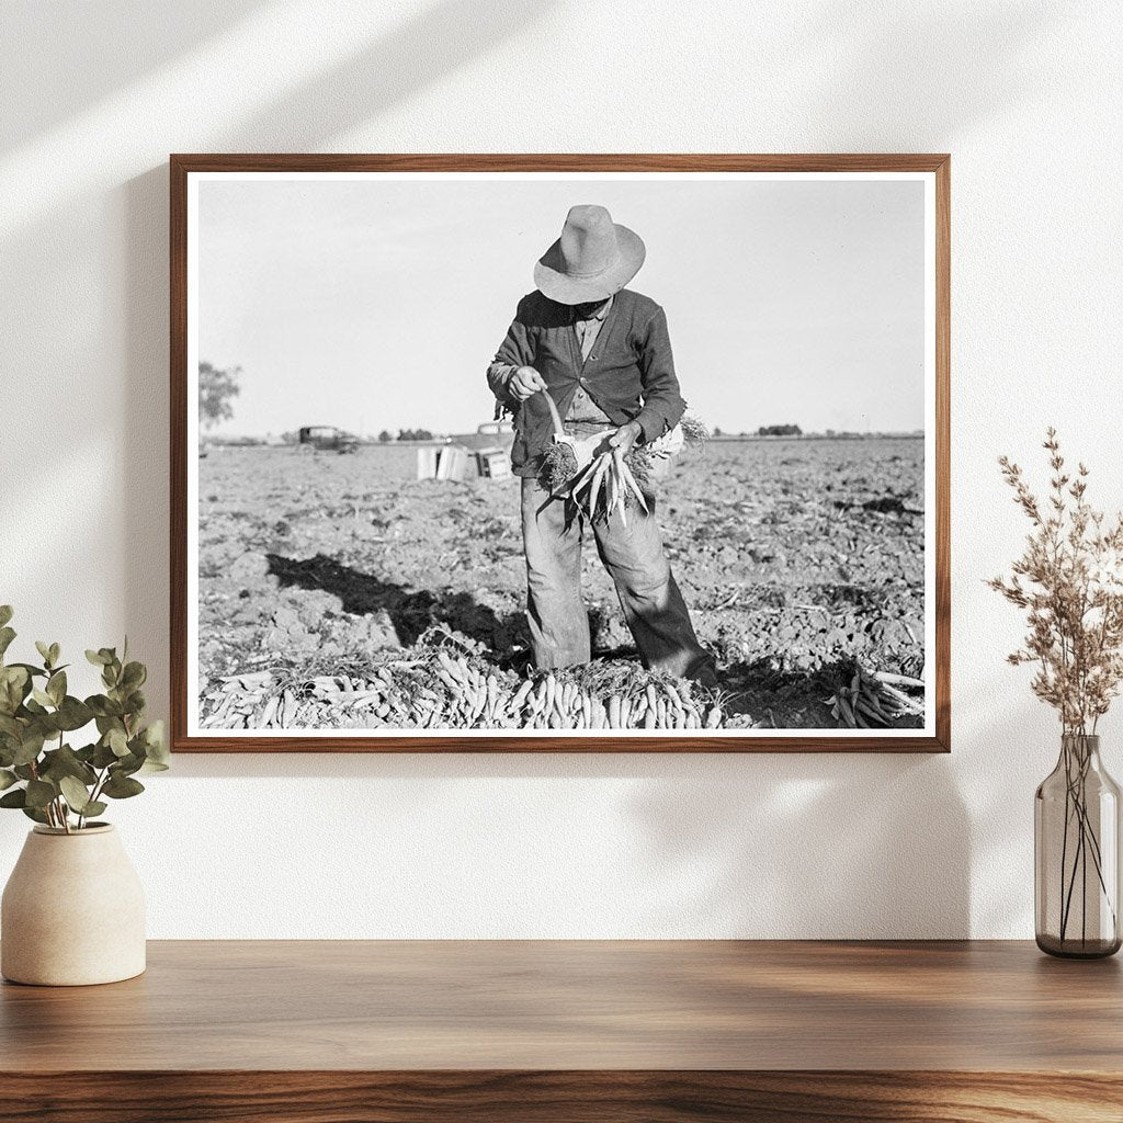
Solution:
{"label": "framed black-and-white photograph of a field worker, frame included", "polygon": [[949,158],[171,158],[176,751],[948,751]]}

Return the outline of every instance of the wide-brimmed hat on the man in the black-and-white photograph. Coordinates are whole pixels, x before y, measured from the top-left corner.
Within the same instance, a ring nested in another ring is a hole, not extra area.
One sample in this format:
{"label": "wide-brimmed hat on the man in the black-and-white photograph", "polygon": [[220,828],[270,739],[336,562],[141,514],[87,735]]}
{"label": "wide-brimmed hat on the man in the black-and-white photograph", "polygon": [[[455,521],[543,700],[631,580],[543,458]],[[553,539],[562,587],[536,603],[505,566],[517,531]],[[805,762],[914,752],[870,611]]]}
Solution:
{"label": "wide-brimmed hat on the man in the black-and-white photograph", "polygon": [[595,204],[572,207],[562,237],[535,264],[535,284],[559,304],[585,304],[619,292],[643,264],[638,234]]}

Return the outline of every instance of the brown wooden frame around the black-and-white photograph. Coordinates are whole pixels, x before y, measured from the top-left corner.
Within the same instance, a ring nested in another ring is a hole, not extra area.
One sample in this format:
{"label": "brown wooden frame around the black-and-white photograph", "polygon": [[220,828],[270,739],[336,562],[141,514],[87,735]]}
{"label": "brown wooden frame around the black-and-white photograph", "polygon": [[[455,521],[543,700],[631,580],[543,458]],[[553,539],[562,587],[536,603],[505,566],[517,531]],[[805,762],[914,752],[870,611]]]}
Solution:
{"label": "brown wooden frame around the black-and-white photograph", "polygon": [[[171,739],[176,752],[947,752],[951,738],[951,159],[947,154],[226,153],[170,157]],[[188,176],[193,172],[930,172],[935,180],[935,728],[930,734],[847,737],[254,737],[188,734]]]}

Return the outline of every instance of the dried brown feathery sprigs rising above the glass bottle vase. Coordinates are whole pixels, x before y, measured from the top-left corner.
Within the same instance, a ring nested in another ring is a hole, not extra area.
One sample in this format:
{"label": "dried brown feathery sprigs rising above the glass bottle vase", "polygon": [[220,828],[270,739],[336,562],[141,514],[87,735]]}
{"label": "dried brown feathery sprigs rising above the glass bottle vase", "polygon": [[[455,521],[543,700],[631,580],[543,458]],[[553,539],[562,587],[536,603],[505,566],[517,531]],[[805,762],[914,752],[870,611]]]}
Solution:
{"label": "dried brown feathery sprigs rising above the glass bottle vase", "polygon": [[1088,736],[1123,681],[1123,514],[1105,526],[1085,497],[1087,467],[1066,469],[1052,427],[1043,448],[1051,477],[1042,499],[1017,464],[998,460],[1033,529],[1011,575],[987,584],[1026,613],[1029,632],[1008,661],[1034,665],[1033,693],[1057,709],[1066,733]]}

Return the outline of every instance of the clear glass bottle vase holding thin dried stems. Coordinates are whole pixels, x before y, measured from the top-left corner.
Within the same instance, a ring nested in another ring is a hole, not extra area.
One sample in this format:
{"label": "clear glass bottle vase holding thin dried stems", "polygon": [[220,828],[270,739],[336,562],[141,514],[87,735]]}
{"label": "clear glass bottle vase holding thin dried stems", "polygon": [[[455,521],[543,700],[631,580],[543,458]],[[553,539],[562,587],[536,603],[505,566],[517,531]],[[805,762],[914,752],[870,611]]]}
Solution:
{"label": "clear glass bottle vase holding thin dried stems", "polygon": [[1051,956],[1094,959],[1120,949],[1120,788],[1099,738],[1066,733],[1033,801],[1035,928]]}

